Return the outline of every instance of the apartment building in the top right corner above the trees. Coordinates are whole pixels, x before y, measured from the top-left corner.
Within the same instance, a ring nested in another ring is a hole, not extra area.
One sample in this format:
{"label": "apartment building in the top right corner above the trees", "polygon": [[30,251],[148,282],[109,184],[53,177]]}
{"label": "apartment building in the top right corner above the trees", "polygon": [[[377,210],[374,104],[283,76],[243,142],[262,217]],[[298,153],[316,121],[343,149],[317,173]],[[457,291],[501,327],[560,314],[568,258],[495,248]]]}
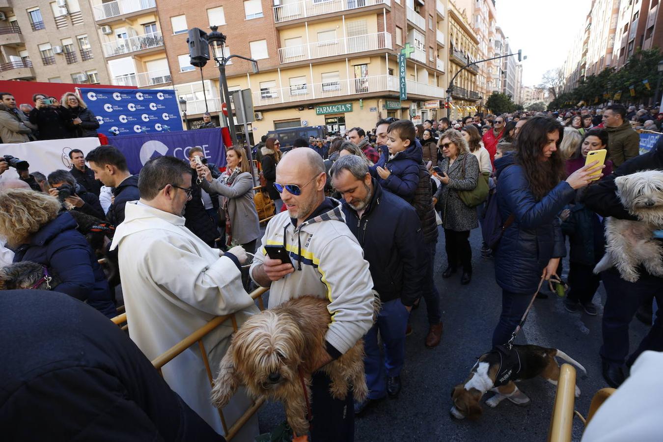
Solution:
{"label": "apartment building in the top right corner above the trees", "polygon": [[663,46],[663,13],[658,0],[621,0],[613,66],[621,68],[636,50]]}

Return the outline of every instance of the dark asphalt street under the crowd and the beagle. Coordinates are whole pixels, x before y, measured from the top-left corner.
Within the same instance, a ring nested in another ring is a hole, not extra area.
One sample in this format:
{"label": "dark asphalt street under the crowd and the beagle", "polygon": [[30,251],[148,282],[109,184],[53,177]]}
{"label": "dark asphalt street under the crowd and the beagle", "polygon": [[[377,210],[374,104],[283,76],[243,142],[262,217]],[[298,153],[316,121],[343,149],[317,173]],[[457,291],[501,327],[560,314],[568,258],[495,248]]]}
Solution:
{"label": "dark asphalt street under the crowd and the beagle", "polygon": [[[460,274],[442,279],[446,267],[444,235],[440,235],[436,257],[436,284],[442,297],[442,343],[435,349],[424,346],[428,332],[426,307],[412,313],[412,335],[407,337],[406,360],[401,374],[402,391],[398,399],[385,399],[355,420],[356,441],[545,441],[550,425],[555,387],[541,378],[518,384],[531,399],[527,407],[505,400],[497,408],[483,404],[478,421],[457,421],[450,417],[453,386],[467,378],[477,357],[491,349],[491,337],[501,310],[501,290],[495,283],[493,260],[481,258],[481,231],[475,229],[470,241],[473,253],[473,277],[461,286]],[[568,262],[564,264],[566,279]],[[595,296],[603,304],[603,286]],[[627,294],[625,294],[627,296]],[[554,294],[536,300],[516,343],[556,347],[587,368],[587,376],[578,372],[581,396],[575,409],[586,415],[593,394],[607,386],[601,376],[601,313],[568,313],[562,299]],[[631,323],[631,350],[646,333],[637,320]],[[564,361],[559,361],[560,364]],[[486,394],[484,400],[491,393]],[[483,401],[482,401],[483,402]],[[269,403],[259,411],[262,432],[284,420],[281,404]],[[579,441],[582,423],[573,421],[573,440]]]}

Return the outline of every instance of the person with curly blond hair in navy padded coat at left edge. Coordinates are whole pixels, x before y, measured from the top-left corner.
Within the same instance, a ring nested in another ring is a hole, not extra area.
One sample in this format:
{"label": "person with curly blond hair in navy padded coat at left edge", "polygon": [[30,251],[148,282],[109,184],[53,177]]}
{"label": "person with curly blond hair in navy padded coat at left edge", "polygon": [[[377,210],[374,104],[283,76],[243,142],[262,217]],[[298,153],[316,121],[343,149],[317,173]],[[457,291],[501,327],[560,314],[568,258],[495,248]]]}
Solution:
{"label": "person with curly blond hair in navy padded coat at left edge", "polygon": [[107,317],[117,315],[106,276],[78,224],[60,212],[58,199],[33,190],[0,192],[0,236],[15,250],[14,262],[43,264],[60,282],[53,288]]}

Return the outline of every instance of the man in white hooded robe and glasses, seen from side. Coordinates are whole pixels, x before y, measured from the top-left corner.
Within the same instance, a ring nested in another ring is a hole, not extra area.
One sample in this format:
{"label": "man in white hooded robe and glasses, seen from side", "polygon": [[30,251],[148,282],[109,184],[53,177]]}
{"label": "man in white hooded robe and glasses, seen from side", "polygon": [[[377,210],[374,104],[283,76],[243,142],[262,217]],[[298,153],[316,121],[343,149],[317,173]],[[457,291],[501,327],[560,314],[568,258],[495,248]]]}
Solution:
{"label": "man in white hooded robe and glasses, seen from side", "polygon": [[[119,250],[119,270],[129,322],[129,337],[148,359],[161,355],[217,315],[237,313],[241,326],[258,311],[244,291],[239,246],[225,254],[212,249],[184,225],[192,194],[190,165],[173,156],[149,160],[138,179],[139,201],[125,207],[111,250]],[[210,366],[217,367],[229,345],[232,327],[218,327],[203,339]],[[223,434],[221,418],[211,405],[210,381],[198,351],[191,349],[163,369],[170,388],[200,417]],[[243,393],[229,406],[241,414],[249,407]],[[257,417],[247,437],[258,434]]]}

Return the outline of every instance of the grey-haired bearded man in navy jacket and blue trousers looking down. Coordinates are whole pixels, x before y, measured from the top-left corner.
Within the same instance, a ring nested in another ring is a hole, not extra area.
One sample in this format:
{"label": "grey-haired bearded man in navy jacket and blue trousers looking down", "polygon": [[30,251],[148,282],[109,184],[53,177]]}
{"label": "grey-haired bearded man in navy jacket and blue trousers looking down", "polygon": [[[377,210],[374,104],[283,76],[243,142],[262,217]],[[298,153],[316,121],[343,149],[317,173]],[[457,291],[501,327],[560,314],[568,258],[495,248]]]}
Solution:
{"label": "grey-haired bearded man in navy jacket and blue trousers looking down", "polygon": [[[363,158],[341,156],[331,166],[330,175],[334,188],[343,195],[345,223],[364,250],[373,290],[382,303],[375,325],[364,337],[369,398],[355,402],[355,414],[361,414],[369,404],[387,394],[395,398],[400,392],[405,330],[412,304],[421,296],[428,253],[414,208],[383,190]],[[384,343],[384,361],[378,331]]]}

